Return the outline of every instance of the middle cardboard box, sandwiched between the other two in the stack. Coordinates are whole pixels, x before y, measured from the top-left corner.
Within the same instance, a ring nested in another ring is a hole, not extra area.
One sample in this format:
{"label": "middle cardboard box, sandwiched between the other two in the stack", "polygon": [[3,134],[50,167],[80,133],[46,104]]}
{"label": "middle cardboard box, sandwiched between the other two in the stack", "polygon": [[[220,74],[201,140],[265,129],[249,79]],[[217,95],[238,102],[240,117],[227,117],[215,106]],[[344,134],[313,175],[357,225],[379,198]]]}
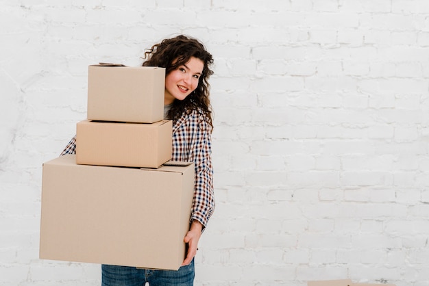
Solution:
{"label": "middle cardboard box, sandwiched between the other two in the stack", "polygon": [[99,122],[76,125],[76,163],[158,168],[171,159],[171,120],[155,123]]}

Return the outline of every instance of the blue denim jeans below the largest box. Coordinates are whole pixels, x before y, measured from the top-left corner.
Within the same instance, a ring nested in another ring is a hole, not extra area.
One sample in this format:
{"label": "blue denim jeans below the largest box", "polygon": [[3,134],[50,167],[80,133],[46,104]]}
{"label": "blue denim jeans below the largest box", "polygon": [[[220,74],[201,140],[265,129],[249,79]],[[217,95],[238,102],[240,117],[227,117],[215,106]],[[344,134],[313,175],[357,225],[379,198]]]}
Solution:
{"label": "blue denim jeans below the largest box", "polygon": [[101,265],[101,286],[193,286],[194,277],[193,260],[177,271]]}

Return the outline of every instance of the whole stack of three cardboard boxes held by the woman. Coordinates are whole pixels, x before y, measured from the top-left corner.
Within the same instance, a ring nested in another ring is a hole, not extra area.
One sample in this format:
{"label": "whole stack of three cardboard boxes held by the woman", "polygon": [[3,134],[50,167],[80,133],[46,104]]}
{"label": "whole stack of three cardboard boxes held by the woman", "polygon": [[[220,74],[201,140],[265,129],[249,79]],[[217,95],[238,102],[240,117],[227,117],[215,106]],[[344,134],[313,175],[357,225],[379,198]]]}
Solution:
{"label": "whole stack of three cardboard boxes held by the woman", "polygon": [[164,68],[89,66],[76,155],[43,164],[41,259],[180,267],[194,166],[167,162],[164,80]]}

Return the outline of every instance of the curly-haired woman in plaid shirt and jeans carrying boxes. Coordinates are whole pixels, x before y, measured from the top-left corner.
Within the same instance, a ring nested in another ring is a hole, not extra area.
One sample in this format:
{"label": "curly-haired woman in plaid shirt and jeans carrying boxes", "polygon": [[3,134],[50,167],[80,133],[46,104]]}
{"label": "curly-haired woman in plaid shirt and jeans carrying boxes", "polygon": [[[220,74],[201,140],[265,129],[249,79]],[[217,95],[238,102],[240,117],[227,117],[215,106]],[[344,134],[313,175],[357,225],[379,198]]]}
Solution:
{"label": "curly-haired woman in plaid shirt and jeans carrying boxes", "polygon": [[[195,192],[190,228],[184,242],[186,257],[177,271],[147,270],[102,265],[103,286],[193,285],[194,257],[201,233],[215,209],[212,185],[212,117],[208,78],[212,75],[212,55],[198,40],[177,36],[162,40],[145,52],[143,66],[166,69],[164,117],[173,120],[173,160],[195,164]],[[75,138],[62,155],[75,153]]]}

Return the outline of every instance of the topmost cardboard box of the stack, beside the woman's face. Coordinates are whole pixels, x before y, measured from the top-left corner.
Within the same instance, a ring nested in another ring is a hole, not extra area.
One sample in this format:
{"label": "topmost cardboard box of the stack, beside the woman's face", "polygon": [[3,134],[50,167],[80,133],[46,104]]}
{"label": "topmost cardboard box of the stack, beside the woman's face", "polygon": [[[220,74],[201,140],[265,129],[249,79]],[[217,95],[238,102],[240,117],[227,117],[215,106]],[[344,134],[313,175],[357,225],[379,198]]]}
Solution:
{"label": "topmost cardboard box of the stack, beside the woman's face", "polygon": [[88,67],[89,120],[153,123],[164,118],[165,68]]}

